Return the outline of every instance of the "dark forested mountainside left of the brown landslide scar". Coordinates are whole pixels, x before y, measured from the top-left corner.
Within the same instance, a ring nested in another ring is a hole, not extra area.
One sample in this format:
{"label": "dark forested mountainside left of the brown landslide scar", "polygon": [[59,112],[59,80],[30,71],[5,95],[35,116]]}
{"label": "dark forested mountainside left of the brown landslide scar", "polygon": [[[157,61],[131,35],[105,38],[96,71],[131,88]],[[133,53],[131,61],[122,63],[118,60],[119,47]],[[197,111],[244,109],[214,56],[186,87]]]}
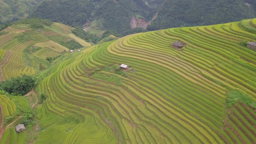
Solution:
{"label": "dark forested mountainside left of the brown landslide scar", "polygon": [[50,19],[70,26],[82,26],[98,20],[98,27],[119,33],[130,29],[132,15],[147,16],[150,8],[142,0],[54,0],[44,1],[32,17]]}

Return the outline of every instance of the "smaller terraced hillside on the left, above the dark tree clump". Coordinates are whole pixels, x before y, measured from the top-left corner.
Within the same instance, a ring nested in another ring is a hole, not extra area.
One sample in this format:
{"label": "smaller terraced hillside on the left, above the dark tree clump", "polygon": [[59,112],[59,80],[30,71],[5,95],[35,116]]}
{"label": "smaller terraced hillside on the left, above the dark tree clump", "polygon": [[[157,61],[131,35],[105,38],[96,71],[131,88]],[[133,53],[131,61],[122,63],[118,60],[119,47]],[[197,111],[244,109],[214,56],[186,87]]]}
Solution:
{"label": "smaller terraced hillside on the left, above the dark tree clump", "polygon": [[[72,27],[52,22],[43,26],[44,22],[49,21],[27,19],[1,31],[0,81],[22,74],[34,76],[51,65],[46,58],[56,59],[76,48],[74,46],[90,46],[72,34]],[[42,25],[34,28],[38,23]]]}

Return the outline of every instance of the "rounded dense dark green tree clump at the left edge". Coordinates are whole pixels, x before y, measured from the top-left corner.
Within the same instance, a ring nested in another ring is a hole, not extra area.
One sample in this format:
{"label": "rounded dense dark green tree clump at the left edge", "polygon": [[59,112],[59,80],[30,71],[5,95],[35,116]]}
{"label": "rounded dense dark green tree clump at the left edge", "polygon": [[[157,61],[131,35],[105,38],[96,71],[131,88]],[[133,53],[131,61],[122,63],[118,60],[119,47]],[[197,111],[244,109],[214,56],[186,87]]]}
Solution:
{"label": "rounded dense dark green tree clump at the left edge", "polygon": [[22,75],[21,77],[0,82],[0,90],[4,90],[12,95],[25,95],[34,85],[35,80],[32,76]]}

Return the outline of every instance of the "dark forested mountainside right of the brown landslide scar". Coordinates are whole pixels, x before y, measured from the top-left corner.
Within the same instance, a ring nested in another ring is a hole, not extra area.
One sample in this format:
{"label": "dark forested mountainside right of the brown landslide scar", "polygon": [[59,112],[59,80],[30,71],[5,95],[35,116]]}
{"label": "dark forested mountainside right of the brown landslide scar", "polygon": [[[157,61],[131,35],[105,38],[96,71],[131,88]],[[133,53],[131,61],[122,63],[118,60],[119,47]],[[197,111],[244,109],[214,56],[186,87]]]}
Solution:
{"label": "dark forested mountainside right of the brown landslide scar", "polygon": [[255,8],[254,0],[165,0],[147,29],[234,22],[254,18]]}

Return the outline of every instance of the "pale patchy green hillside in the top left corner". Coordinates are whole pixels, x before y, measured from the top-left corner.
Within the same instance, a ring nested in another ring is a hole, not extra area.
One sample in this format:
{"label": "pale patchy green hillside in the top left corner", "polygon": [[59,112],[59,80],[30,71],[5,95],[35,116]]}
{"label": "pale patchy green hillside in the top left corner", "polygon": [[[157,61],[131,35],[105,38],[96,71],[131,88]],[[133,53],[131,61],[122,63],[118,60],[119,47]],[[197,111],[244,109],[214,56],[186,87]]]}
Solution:
{"label": "pale patchy green hillside in the top left corner", "polygon": [[0,0],[0,21],[9,20],[13,16],[27,17],[40,2],[42,0]]}

